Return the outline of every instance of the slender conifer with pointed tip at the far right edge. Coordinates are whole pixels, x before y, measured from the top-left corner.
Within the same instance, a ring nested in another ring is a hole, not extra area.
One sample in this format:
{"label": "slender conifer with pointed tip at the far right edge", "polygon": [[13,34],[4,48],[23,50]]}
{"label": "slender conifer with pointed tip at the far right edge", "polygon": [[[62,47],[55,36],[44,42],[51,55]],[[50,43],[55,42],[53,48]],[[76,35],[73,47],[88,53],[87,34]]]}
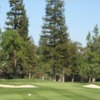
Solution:
{"label": "slender conifer with pointed tip at the far right edge", "polygon": [[[94,27],[93,30],[94,36],[92,37],[93,43],[91,46],[92,51],[92,81],[96,81],[98,75],[100,74],[100,33],[98,25]],[[100,77],[100,76],[99,76]]]}

